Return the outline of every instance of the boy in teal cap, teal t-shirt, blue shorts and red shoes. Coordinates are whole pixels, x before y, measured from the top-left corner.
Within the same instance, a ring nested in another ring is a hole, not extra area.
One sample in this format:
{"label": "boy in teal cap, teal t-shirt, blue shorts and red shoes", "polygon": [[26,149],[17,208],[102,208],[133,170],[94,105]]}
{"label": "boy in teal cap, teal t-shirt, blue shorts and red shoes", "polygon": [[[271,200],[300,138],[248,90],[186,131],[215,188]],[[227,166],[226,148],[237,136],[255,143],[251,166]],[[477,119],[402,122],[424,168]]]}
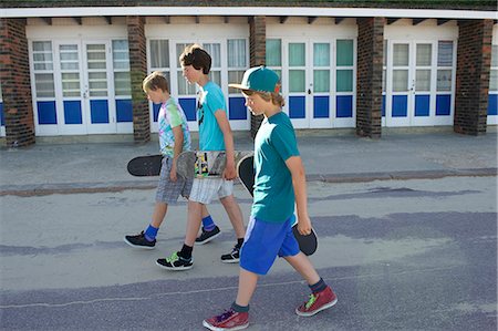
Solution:
{"label": "boy in teal cap, teal t-shirt, blue shorts and red shoes", "polygon": [[239,289],[236,301],[222,314],[203,322],[210,330],[240,330],[249,325],[249,301],[260,275],[267,275],[277,257],[283,257],[308,282],[310,299],[295,309],[302,317],[334,306],[335,293],[299,250],[292,232],[294,204],[298,230],[311,234],[304,167],[299,156],[294,130],[281,111],[278,75],[264,68],[252,68],[241,84],[246,105],[264,120],[255,139],[255,198],[251,218],[240,251]]}

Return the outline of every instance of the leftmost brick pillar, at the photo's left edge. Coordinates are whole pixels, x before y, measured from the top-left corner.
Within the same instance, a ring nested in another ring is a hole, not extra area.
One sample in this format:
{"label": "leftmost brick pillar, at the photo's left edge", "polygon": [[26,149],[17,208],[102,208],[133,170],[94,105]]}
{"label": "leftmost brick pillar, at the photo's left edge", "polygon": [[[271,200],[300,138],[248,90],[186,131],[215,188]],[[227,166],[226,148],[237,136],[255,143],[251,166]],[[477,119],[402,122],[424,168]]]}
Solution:
{"label": "leftmost brick pillar, at the photo's left edge", "polygon": [[7,146],[34,144],[25,19],[0,19],[0,60]]}

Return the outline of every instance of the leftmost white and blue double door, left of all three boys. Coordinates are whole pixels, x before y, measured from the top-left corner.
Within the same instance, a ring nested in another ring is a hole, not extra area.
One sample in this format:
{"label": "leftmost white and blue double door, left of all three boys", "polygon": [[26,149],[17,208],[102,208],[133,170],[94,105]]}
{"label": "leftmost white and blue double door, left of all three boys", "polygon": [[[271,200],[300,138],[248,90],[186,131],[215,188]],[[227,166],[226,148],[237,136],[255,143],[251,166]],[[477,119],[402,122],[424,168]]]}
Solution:
{"label": "leftmost white and blue double door, left of all three boys", "polygon": [[32,49],[38,134],[118,132],[111,40],[33,42]]}

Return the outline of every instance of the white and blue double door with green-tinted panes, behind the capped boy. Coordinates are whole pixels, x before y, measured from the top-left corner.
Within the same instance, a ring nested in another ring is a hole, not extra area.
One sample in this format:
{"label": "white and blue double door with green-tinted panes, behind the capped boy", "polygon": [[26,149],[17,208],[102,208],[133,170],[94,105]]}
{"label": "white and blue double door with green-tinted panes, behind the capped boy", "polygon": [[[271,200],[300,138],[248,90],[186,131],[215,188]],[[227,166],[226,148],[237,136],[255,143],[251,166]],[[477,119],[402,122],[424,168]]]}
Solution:
{"label": "white and blue double door with green-tinted panes, behind the capped boy", "polygon": [[354,40],[283,39],[270,48],[279,42],[281,61],[271,53],[267,62],[281,75],[284,112],[294,127],[353,126]]}

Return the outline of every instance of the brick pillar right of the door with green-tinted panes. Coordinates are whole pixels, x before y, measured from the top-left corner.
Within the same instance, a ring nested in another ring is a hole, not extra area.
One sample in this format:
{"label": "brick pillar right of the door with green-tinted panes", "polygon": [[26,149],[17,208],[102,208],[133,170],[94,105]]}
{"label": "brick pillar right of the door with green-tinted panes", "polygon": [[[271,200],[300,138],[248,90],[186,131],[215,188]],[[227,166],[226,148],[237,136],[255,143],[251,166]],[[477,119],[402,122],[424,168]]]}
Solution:
{"label": "brick pillar right of the door with green-tinted panes", "polygon": [[356,134],[372,138],[382,132],[382,61],[384,18],[357,22]]}

